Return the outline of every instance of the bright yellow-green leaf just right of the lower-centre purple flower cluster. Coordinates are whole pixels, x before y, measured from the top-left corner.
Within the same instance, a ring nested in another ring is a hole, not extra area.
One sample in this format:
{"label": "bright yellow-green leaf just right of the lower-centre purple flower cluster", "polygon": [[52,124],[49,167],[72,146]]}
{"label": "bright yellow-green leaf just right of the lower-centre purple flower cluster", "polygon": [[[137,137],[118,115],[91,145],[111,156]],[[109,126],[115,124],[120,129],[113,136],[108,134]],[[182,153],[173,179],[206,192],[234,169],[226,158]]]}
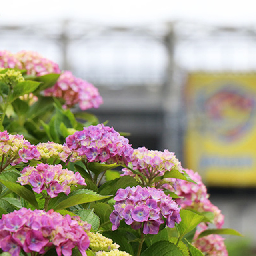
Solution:
{"label": "bright yellow-green leaf just right of the lower-centre purple flower cluster", "polygon": [[185,234],[193,230],[203,219],[204,216],[200,216],[190,210],[180,210],[181,222],[176,224],[180,238]]}

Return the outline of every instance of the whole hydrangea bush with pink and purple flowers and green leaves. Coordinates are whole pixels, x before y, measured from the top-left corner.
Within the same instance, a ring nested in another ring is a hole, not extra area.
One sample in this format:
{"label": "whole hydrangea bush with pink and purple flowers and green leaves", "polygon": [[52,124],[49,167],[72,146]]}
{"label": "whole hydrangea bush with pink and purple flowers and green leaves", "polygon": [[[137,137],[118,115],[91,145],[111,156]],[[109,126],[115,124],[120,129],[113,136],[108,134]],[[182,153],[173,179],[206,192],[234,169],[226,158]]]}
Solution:
{"label": "whole hydrangea bush with pink and purple flowers and green leaves", "polygon": [[0,51],[0,255],[227,256],[221,234],[240,234],[199,174],[84,112],[100,104],[40,54]]}

